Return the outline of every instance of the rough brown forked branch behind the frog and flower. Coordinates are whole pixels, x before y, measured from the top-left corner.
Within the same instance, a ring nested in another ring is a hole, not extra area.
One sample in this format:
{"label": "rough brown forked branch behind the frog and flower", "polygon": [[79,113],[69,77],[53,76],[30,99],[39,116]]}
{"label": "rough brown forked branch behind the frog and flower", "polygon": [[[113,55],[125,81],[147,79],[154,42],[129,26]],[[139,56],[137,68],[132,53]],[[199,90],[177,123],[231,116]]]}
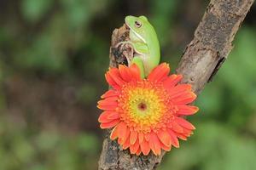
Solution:
{"label": "rough brown forked branch behind the frog and flower", "polygon": [[[195,94],[199,94],[205,84],[212,80],[232,49],[232,41],[241,26],[253,0],[212,0],[195,31],[195,37],[185,49],[177,67],[177,73],[183,75],[183,82],[193,85]],[[110,66],[127,64],[124,53],[115,44],[128,38],[128,28],[120,27],[113,31],[110,48]],[[109,139],[108,130],[102,145],[99,161],[100,170],[132,169],[151,170],[160,163],[161,156],[135,156],[129,150],[121,150],[116,141]]]}

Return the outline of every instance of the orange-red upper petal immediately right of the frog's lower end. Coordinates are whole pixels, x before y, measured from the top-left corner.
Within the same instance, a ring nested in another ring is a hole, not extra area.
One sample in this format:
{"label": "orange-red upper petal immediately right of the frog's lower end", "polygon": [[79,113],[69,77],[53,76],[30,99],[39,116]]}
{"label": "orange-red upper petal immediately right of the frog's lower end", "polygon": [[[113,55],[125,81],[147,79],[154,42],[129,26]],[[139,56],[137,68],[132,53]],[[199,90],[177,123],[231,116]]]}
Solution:
{"label": "orange-red upper petal immediately right of the frog's lower end", "polygon": [[151,71],[148,75],[148,81],[149,82],[158,82],[165,78],[167,78],[168,74],[170,72],[170,67],[166,63],[162,63],[158,66],[156,66],[153,71]]}

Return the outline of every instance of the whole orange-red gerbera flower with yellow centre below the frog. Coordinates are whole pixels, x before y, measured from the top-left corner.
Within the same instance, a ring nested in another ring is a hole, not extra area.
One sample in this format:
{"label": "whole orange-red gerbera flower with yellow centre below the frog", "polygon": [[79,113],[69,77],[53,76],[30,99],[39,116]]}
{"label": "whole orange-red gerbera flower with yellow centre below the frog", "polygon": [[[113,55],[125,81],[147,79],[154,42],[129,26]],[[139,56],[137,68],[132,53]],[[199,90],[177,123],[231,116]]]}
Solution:
{"label": "whole orange-red gerbera flower with yellow centre below the frog", "polygon": [[162,63],[147,78],[140,77],[137,65],[110,68],[105,77],[113,89],[102,95],[98,108],[103,110],[98,121],[102,128],[112,128],[110,139],[131,154],[147,156],[150,150],[179,147],[195,127],[183,116],[195,114],[198,108],[188,105],[196,95],[189,84],[177,84],[181,75],[168,76],[169,65]]}

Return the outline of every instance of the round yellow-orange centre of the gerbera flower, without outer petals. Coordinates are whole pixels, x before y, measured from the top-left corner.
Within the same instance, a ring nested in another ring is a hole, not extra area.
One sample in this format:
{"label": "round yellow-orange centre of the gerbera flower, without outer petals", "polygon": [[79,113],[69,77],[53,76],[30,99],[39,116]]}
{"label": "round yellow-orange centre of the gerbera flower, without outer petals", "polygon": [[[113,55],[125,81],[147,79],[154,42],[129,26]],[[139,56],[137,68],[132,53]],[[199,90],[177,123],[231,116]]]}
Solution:
{"label": "round yellow-orange centre of the gerbera flower, without outer petals", "polygon": [[143,80],[122,88],[118,110],[129,127],[147,133],[166,126],[162,122],[170,121],[170,106],[169,96],[161,84]]}

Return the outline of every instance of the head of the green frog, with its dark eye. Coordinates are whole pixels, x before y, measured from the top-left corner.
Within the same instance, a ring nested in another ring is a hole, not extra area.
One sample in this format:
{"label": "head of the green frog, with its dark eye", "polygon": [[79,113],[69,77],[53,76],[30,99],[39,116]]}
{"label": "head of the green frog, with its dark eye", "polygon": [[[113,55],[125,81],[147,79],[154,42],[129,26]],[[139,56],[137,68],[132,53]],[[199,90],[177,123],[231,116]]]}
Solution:
{"label": "head of the green frog, with its dark eye", "polygon": [[130,38],[140,42],[148,42],[148,34],[154,32],[154,27],[145,16],[126,16],[125,25],[130,28]]}

